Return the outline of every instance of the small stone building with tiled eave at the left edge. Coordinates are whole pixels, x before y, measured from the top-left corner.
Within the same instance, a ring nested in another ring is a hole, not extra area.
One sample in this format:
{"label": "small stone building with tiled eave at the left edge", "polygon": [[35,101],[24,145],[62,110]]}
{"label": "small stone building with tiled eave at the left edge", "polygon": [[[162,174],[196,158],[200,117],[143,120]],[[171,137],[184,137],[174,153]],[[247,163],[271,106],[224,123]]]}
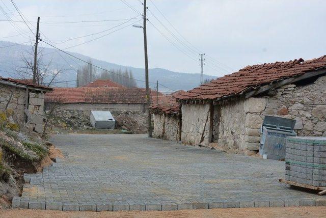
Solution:
{"label": "small stone building with tiled eave at the left edge", "polygon": [[27,80],[0,77],[0,111],[13,110],[20,128],[43,131],[44,94],[52,89],[33,85]]}

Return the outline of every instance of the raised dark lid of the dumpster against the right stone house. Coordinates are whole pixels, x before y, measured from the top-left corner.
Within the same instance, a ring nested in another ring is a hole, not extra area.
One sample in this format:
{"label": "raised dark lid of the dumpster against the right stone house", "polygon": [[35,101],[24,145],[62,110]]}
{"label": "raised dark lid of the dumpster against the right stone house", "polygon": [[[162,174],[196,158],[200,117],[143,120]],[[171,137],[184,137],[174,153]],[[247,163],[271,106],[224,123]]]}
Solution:
{"label": "raised dark lid of the dumpster against the right stone house", "polygon": [[293,119],[266,115],[262,127],[265,126],[276,130],[293,131],[295,122],[296,120]]}

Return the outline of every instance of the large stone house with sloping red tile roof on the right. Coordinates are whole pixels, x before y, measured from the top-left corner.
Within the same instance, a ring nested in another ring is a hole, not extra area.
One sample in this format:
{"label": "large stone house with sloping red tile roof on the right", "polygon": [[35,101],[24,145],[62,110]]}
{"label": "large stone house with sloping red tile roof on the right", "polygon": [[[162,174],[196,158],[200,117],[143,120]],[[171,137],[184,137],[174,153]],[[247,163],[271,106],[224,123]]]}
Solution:
{"label": "large stone house with sloping red tile roof on the right", "polygon": [[[296,120],[298,135],[326,135],[326,56],[247,66],[175,96],[181,141],[255,154],[265,115]],[[212,144],[211,144],[212,143]]]}

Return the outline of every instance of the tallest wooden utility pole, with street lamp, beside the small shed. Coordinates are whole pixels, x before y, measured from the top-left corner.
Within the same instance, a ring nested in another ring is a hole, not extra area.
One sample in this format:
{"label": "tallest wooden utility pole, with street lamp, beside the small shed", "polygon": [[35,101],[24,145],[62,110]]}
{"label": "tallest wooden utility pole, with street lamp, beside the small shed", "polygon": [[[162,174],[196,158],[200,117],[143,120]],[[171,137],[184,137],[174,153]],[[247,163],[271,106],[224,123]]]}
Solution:
{"label": "tallest wooden utility pole, with street lamp, beside the small shed", "polygon": [[150,93],[149,93],[149,85],[148,85],[148,58],[147,58],[147,36],[146,36],[146,0],[144,0],[144,50],[145,50],[145,82],[146,82],[146,95],[147,95],[147,113],[148,113],[148,137],[152,138],[152,116],[149,110],[151,105]]}

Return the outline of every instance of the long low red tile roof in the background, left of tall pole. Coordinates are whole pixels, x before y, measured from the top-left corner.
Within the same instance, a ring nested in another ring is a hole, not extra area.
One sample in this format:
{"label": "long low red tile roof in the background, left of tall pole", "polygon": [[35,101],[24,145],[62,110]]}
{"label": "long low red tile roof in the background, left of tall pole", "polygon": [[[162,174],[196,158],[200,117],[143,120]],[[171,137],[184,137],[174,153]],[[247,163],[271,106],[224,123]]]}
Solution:
{"label": "long low red tile roof in the background, left of tall pole", "polygon": [[146,89],[80,87],[55,88],[45,95],[45,102],[62,103],[146,103]]}

